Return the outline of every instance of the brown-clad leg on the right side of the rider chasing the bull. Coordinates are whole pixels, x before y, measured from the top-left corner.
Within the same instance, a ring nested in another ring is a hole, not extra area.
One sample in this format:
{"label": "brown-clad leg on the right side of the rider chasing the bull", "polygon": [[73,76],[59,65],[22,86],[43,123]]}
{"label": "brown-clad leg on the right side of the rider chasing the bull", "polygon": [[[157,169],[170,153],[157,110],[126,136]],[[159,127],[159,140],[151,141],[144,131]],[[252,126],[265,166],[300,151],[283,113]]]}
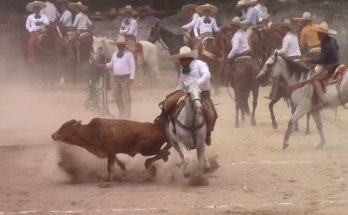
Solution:
{"label": "brown-clad leg on the right side of the rider chasing the bull", "polygon": [[211,145],[211,132],[214,131],[215,122],[218,118],[213,101],[210,98],[210,91],[202,91],[203,115],[207,124],[206,143]]}

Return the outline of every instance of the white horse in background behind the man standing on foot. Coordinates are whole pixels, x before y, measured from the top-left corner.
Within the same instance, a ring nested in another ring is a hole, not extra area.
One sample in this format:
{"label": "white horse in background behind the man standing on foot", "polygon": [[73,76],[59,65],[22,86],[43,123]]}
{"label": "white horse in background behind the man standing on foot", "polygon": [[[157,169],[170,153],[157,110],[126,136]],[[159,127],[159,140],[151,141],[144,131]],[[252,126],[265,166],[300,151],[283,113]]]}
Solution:
{"label": "white horse in background behind the man standing on foot", "polygon": [[[112,45],[110,40],[106,37],[96,37],[93,42],[93,59],[104,56],[106,60],[110,60],[117,47]],[[159,67],[156,46],[148,41],[138,41],[142,51],[138,57],[138,65],[144,69],[145,74],[149,74],[152,81],[152,86],[158,83]]]}

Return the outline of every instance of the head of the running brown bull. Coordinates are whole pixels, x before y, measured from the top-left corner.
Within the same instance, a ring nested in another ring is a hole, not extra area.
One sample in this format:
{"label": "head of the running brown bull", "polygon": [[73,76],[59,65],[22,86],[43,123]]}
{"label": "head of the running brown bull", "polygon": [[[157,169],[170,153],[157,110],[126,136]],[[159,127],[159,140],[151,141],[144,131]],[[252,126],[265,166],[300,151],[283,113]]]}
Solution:
{"label": "head of the running brown bull", "polygon": [[65,143],[70,143],[76,129],[81,125],[81,121],[76,121],[74,119],[64,123],[54,134],[52,134],[53,140],[63,141]]}

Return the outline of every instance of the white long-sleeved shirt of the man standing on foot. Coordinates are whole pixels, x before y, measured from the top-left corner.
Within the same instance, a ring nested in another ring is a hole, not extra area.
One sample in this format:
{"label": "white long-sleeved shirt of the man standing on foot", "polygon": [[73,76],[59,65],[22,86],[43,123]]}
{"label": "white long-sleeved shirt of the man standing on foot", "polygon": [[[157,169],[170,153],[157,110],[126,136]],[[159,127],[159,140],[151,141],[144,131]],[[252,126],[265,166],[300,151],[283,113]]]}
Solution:
{"label": "white long-sleeved shirt of the man standing on foot", "polygon": [[135,76],[135,62],[133,54],[125,50],[121,58],[117,57],[118,52],[112,54],[111,60],[106,64],[106,67],[112,69],[113,74],[116,75],[130,75],[130,79]]}

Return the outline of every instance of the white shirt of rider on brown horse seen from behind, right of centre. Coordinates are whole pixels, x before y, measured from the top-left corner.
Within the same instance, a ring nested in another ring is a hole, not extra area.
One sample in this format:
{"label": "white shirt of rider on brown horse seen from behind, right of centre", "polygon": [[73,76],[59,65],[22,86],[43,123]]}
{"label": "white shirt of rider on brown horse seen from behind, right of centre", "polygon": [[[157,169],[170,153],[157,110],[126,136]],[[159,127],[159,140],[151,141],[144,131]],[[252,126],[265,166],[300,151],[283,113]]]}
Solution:
{"label": "white shirt of rider on brown horse seen from behind, right of centre", "polygon": [[229,59],[233,58],[236,54],[250,50],[247,38],[247,33],[243,29],[239,29],[234,33],[231,40],[232,50],[227,56]]}

